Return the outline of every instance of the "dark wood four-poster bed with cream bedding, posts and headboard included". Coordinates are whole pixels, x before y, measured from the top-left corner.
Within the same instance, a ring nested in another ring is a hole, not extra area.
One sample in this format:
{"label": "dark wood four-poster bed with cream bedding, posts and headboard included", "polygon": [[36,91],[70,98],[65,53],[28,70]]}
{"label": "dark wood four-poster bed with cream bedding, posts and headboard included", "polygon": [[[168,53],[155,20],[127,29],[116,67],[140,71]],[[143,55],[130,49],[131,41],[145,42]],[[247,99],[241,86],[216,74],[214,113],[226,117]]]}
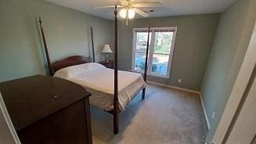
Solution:
{"label": "dark wood four-poster bed with cream bedding, posts and headboard included", "polygon": [[[117,134],[118,117],[121,110],[124,110],[124,106],[126,106],[135,97],[135,95],[138,95],[141,90],[142,99],[145,99],[150,27],[146,46],[144,77],[142,77],[141,74],[121,71],[117,68],[117,6],[115,6],[114,10],[114,70],[103,67],[99,63],[90,63],[90,58],[85,56],[71,56],[67,59],[51,63],[42,26],[41,34],[45,44],[45,53],[49,64],[49,74],[54,74],[56,77],[62,77],[73,81],[78,85],[83,86],[88,90],[88,92],[91,92],[92,99],[90,99],[90,103],[93,106],[99,107],[114,115],[114,134]],[[111,79],[108,79],[107,77],[110,77]],[[113,83],[114,89],[113,86],[111,86]]]}

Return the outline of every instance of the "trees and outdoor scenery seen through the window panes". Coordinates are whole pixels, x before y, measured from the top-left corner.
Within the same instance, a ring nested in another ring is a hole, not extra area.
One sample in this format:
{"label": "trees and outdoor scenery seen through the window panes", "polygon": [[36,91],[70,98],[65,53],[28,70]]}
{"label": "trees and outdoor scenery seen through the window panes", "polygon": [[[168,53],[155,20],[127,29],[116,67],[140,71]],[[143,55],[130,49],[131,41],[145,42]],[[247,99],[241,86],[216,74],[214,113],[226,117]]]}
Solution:
{"label": "trees and outdoor scenery seen through the window panes", "polygon": [[[168,60],[171,50],[171,40],[173,32],[171,31],[156,31],[155,41],[153,42],[153,59],[151,74],[167,75]],[[137,32],[136,50],[135,50],[135,70],[143,71],[146,59],[146,32]],[[151,33],[150,33],[151,41]],[[151,53],[151,52],[150,52]]]}

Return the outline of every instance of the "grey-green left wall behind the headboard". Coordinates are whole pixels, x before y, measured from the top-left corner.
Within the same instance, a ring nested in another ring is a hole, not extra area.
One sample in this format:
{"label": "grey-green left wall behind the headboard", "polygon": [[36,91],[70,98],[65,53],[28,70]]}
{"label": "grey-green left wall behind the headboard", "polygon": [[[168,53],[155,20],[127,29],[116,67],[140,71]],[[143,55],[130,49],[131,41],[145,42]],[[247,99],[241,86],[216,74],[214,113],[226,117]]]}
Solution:
{"label": "grey-green left wall behind the headboard", "polygon": [[112,44],[113,22],[43,0],[0,1],[0,81],[45,74],[45,53],[38,30],[42,17],[52,61],[89,56],[89,27],[94,28],[96,61]]}

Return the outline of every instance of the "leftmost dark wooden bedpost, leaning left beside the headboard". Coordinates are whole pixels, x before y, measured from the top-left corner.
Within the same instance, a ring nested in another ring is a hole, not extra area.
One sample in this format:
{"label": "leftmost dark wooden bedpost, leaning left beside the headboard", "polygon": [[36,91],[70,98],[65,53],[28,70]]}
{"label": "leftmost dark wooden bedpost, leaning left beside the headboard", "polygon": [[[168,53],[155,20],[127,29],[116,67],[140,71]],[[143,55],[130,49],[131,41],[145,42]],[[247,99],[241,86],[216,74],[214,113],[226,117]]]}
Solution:
{"label": "leftmost dark wooden bedpost, leaning left beside the headboard", "polygon": [[41,30],[41,38],[43,40],[44,48],[45,48],[45,55],[46,55],[48,70],[49,70],[50,76],[52,76],[53,71],[52,71],[51,61],[50,61],[50,57],[49,57],[49,52],[48,52],[48,49],[47,49],[47,44],[46,44],[46,41],[45,41],[44,27],[42,27],[42,24],[41,24],[41,17],[39,17],[39,24],[40,24],[40,30]]}

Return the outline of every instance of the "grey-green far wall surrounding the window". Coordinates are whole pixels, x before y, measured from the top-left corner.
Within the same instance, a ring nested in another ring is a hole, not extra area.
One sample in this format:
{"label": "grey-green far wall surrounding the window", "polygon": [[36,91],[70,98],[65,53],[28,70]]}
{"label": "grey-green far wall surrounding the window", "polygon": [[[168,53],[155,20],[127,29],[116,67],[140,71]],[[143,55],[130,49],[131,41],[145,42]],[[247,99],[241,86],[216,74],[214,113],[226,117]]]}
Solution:
{"label": "grey-green far wall surrounding the window", "polygon": [[[149,80],[199,91],[218,18],[219,14],[171,16],[130,20],[128,26],[124,20],[119,21],[118,67],[121,70],[132,69],[133,28],[148,27],[149,23],[151,27],[178,27],[170,77],[149,77]],[[181,84],[178,83],[178,78],[182,79]]]}

